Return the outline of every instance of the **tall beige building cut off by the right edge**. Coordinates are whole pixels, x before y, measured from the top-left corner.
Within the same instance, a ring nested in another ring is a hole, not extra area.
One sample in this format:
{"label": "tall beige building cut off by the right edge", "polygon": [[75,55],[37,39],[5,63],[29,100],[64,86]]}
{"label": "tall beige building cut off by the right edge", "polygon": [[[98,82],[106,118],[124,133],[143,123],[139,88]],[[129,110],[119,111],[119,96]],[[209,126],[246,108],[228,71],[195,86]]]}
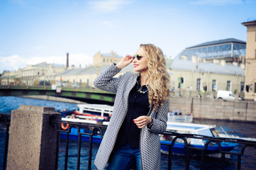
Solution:
{"label": "tall beige building cut off by the right edge", "polygon": [[256,21],[242,23],[247,27],[245,62],[245,99],[256,98]]}

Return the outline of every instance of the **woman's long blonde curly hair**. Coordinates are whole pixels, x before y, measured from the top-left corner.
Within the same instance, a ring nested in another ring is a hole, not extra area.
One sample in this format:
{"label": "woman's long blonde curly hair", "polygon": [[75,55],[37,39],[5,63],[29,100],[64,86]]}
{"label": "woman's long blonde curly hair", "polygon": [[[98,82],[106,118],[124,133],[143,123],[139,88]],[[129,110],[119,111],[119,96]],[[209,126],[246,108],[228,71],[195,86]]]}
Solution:
{"label": "woman's long blonde curly hair", "polygon": [[169,82],[170,77],[165,66],[165,57],[162,50],[152,44],[141,44],[140,47],[145,50],[148,59],[148,86],[150,106],[158,111],[170,95]]}

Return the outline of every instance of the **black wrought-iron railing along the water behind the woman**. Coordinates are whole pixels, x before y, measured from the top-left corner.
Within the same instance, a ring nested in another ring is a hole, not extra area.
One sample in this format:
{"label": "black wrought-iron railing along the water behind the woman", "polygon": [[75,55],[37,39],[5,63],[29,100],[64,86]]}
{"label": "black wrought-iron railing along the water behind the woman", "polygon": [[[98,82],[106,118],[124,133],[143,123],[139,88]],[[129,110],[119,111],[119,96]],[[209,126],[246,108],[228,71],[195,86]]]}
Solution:
{"label": "black wrought-iron railing along the water behind the woman", "polygon": [[[4,155],[3,157],[3,169],[6,169],[6,160],[7,160],[7,151],[8,151],[8,140],[9,140],[9,126],[10,126],[10,117],[11,115],[9,114],[0,114],[1,115],[1,124],[5,125],[6,132],[5,132],[5,147],[4,147],[4,153],[0,153]],[[87,141],[89,142],[89,148],[88,148],[88,160],[87,160],[87,169],[91,169],[91,162],[92,160],[92,144],[96,140],[100,140],[101,137],[103,137],[104,132],[106,130],[106,125],[100,125],[100,124],[91,124],[91,123],[74,123],[74,122],[67,122],[67,121],[62,121],[62,120],[56,120],[55,118],[50,119],[50,124],[55,126],[55,130],[58,136],[56,145],[57,149],[55,152],[59,153],[60,152],[60,137],[65,137],[65,166],[64,169],[67,169],[67,165],[69,162],[69,139],[71,138],[72,135],[72,130],[77,131],[77,169],[80,169],[80,159],[81,159],[81,149],[82,149],[82,138],[87,137]],[[67,125],[68,124],[68,125]],[[1,127],[4,127],[0,125]],[[61,128],[65,128],[66,130],[63,130]],[[0,129],[1,130],[1,129]],[[204,135],[192,135],[192,134],[179,134],[177,132],[165,132],[162,135],[165,135],[167,137],[172,137],[172,142],[169,144],[162,144],[167,147],[168,149],[168,169],[172,169],[172,162],[174,159],[173,156],[173,149],[174,145],[177,143],[177,140],[183,140],[184,142],[184,158],[185,158],[185,169],[189,169],[189,164],[190,164],[190,157],[193,152],[199,153],[201,157],[201,162],[200,162],[200,169],[204,169],[204,163],[205,163],[205,157],[208,154],[208,147],[210,145],[218,145],[218,153],[221,154],[221,166],[218,169],[225,169],[225,163],[226,163],[226,155],[232,155],[234,157],[237,157],[235,162],[237,162],[236,166],[237,169],[241,169],[241,157],[245,154],[245,149],[247,147],[253,147],[256,149],[256,142],[252,141],[247,141],[247,140],[240,140],[240,139],[233,139],[233,138],[226,138],[226,137],[208,137]],[[201,148],[194,147],[193,145],[189,145],[189,140],[195,139],[195,140],[204,140],[205,145],[202,146]],[[180,142],[180,141],[179,141]],[[222,143],[235,143],[238,144],[240,149],[236,149],[236,152],[231,151],[226,151],[222,148]],[[60,169],[58,168],[58,162],[59,162],[59,154],[56,154],[55,162],[57,162],[55,169]],[[230,160],[229,160],[230,161]]]}

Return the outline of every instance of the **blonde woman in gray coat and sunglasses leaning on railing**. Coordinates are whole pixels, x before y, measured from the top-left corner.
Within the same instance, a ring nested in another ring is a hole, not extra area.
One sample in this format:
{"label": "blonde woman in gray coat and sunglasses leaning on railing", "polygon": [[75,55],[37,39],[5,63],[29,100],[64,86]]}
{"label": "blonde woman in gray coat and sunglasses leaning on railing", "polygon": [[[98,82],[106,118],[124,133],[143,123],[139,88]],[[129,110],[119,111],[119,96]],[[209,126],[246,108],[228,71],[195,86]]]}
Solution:
{"label": "blonde woman in gray coat and sunglasses leaning on railing", "polygon": [[[113,78],[133,62],[134,71]],[[140,45],[136,54],[112,64],[94,81],[116,93],[113,115],[95,159],[98,169],[160,169],[159,133],[167,127],[169,74],[162,50]]]}

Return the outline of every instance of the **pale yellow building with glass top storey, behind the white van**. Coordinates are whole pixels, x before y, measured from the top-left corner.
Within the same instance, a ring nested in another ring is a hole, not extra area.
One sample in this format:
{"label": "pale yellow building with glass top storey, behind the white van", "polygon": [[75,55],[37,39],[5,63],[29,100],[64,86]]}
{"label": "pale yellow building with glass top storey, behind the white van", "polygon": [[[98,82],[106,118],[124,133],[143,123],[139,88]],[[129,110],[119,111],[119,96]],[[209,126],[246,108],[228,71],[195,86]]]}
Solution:
{"label": "pale yellow building with glass top storey, behind the white van", "polygon": [[228,38],[188,47],[170,65],[171,86],[178,96],[215,98],[218,90],[241,98],[245,91],[246,42]]}

